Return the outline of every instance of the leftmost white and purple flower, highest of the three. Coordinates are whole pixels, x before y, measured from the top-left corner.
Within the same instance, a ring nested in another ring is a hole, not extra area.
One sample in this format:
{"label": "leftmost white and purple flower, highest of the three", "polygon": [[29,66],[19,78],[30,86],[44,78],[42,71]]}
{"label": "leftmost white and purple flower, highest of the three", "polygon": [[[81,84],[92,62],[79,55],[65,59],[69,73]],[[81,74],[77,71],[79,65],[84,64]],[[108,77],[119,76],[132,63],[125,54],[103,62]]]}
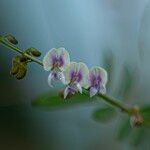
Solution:
{"label": "leftmost white and purple flower, highest of the three", "polygon": [[43,66],[46,71],[51,71],[48,76],[48,84],[52,86],[52,80],[60,80],[65,83],[64,70],[70,64],[70,56],[65,48],[52,48],[43,59]]}

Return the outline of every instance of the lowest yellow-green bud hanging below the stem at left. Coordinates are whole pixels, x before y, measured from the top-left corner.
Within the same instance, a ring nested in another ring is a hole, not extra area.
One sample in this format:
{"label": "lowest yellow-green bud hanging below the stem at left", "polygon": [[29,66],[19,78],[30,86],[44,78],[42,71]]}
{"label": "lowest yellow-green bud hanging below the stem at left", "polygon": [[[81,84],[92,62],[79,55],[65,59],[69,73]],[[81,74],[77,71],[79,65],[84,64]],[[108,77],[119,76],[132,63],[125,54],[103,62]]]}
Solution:
{"label": "lowest yellow-green bud hanging below the stem at left", "polygon": [[21,64],[19,65],[19,71],[18,71],[18,73],[16,74],[16,78],[17,78],[18,80],[23,79],[23,78],[25,77],[26,73],[27,73],[27,65],[21,63]]}

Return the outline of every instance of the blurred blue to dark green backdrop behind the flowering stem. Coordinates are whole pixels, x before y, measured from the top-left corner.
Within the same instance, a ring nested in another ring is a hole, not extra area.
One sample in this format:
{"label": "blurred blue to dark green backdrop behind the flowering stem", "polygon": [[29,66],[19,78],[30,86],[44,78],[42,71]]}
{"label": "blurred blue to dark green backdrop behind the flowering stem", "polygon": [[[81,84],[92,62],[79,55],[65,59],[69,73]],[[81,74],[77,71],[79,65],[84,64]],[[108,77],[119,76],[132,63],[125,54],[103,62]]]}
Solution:
{"label": "blurred blue to dark green backdrop behind the flowering stem", "polygon": [[[132,84],[127,104],[149,104],[150,0],[0,0],[0,34],[13,34],[20,47],[35,47],[44,54],[65,47],[71,59],[89,67],[113,70],[109,94],[123,98],[124,69]],[[110,64],[104,63],[109,55]],[[120,116],[109,123],[95,122],[91,113],[103,103],[48,111],[31,102],[51,90],[48,73],[31,64],[25,79],[10,76],[15,53],[0,45],[1,150],[133,150],[150,149],[118,141]],[[132,82],[134,81],[134,82]],[[130,101],[132,100],[132,101]]]}

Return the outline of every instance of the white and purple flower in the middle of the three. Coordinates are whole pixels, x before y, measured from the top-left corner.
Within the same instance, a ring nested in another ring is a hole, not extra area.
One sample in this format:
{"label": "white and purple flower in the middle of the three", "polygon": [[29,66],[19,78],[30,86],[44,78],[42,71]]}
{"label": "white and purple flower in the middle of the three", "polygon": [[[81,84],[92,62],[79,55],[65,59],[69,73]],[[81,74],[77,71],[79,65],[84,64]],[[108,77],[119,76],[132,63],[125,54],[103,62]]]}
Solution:
{"label": "white and purple flower in the middle of the three", "polygon": [[80,92],[82,94],[82,87],[88,87],[89,70],[86,64],[79,62],[71,62],[70,66],[64,72],[67,87],[64,90],[64,99],[68,94],[75,94]]}

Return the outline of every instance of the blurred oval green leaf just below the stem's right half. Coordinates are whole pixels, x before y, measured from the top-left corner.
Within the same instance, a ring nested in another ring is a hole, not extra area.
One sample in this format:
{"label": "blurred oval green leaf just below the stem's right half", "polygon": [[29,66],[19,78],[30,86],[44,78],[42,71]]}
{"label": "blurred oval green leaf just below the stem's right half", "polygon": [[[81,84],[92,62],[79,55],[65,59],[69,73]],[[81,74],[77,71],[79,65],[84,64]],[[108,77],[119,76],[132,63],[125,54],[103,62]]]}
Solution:
{"label": "blurred oval green leaf just below the stem's right half", "polygon": [[107,122],[115,116],[115,110],[112,107],[98,108],[93,113],[96,121]]}

